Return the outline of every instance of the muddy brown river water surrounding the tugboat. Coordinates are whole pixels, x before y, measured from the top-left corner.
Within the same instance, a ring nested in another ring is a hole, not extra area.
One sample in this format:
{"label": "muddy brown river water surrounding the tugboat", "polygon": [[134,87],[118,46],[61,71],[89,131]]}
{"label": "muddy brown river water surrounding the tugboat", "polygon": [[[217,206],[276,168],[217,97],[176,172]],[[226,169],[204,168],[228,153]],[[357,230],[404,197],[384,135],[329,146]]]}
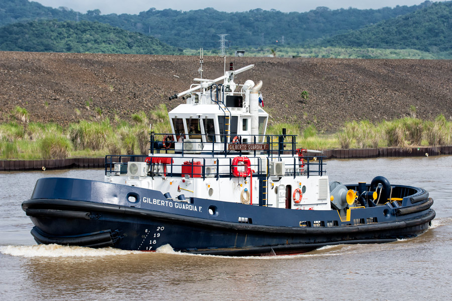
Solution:
{"label": "muddy brown river water surrounding the tugboat", "polygon": [[0,300],[451,300],[452,156],[329,160],[330,181],[384,176],[425,188],[436,218],[418,237],[294,256],[223,257],[38,246],[21,209],[37,179],[103,170],[0,173]]}

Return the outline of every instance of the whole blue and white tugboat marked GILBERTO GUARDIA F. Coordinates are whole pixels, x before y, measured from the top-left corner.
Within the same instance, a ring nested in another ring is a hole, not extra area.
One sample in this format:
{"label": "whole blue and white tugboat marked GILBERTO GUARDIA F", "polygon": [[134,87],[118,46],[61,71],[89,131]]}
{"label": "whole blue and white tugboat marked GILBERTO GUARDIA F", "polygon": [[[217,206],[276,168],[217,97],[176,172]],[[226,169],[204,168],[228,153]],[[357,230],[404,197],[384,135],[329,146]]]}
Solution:
{"label": "whole blue and white tugboat marked GILBERTO GUARDIA F", "polygon": [[[386,243],[428,229],[422,188],[329,183],[321,152],[266,133],[262,81],[230,70],[195,78],[150,133],[143,156],[106,156],[104,181],[39,179],[22,209],[39,244],[214,255],[297,254],[325,245]],[[201,69],[202,70],[202,57]],[[262,106],[260,105],[262,103]]]}

